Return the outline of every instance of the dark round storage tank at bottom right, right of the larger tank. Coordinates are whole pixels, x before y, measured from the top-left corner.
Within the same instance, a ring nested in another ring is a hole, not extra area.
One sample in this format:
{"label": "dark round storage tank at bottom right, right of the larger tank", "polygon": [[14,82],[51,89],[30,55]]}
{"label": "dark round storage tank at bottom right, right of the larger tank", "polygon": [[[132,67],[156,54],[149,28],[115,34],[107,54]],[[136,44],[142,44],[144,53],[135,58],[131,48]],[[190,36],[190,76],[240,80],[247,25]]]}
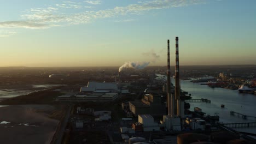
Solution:
{"label": "dark round storage tank at bottom right, right of the larger tank", "polygon": [[220,131],[211,134],[211,141],[215,143],[224,144],[230,140],[240,139],[238,134],[230,133],[228,131]]}

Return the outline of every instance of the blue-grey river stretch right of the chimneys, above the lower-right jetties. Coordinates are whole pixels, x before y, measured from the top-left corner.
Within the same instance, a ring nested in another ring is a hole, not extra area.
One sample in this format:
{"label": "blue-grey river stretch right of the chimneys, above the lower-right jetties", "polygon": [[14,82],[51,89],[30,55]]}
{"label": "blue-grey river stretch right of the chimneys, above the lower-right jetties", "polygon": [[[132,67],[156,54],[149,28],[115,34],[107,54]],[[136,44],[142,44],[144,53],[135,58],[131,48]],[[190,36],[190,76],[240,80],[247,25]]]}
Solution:
{"label": "blue-grey river stretch right of the chimneys, above the lower-right jetties", "polygon": [[[190,81],[181,81],[181,88],[191,93],[193,99],[205,98],[211,100],[211,104],[207,103],[190,103],[200,107],[206,113],[226,113],[229,111],[235,111],[248,116],[255,116],[256,112],[256,95],[239,93],[237,90],[225,89],[225,88],[210,88],[207,85],[200,85],[200,83],[193,83]],[[225,108],[221,108],[220,105],[224,104]],[[192,106],[191,109],[194,109]],[[253,119],[256,120],[256,119]]]}

